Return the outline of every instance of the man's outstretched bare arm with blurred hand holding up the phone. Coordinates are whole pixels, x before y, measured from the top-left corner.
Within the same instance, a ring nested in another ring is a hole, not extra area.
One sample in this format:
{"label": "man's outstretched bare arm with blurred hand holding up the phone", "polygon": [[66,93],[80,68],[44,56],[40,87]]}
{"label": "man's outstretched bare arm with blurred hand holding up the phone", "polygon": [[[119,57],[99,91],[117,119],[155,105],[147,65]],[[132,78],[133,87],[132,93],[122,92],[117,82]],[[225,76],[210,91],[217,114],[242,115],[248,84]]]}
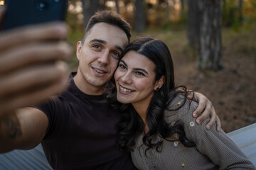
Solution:
{"label": "man's outstretched bare arm with blurred hand holding up the phone", "polygon": [[[0,23],[2,11],[0,10]],[[64,23],[6,30],[0,35],[0,152],[31,149],[43,139],[48,118],[36,108],[65,89],[71,48]],[[18,111],[17,108],[23,108]]]}

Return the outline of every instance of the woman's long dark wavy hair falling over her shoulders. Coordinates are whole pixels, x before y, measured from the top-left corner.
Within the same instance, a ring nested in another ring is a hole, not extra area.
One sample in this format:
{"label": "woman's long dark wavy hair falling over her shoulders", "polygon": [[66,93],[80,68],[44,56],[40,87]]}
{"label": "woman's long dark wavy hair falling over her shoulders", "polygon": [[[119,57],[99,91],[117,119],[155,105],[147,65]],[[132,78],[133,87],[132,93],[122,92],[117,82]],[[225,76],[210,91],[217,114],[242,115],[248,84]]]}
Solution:
{"label": "woman's long dark wavy hair falling over her shoulders", "polygon": [[[184,146],[195,147],[193,142],[186,139],[183,123],[178,121],[174,126],[171,126],[164,120],[164,111],[168,109],[167,106],[169,105],[169,102],[171,102],[178,94],[183,96],[187,95],[186,86],[175,86],[174,64],[171,59],[169,48],[161,40],[155,40],[154,38],[139,38],[127,45],[122,52],[121,58],[130,50],[144,55],[154,62],[156,66],[155,81],[159,80],[162,76],[165,77],[164,85],[161,89],[155,91],[151,103],[149,104],[149,108],[147,109],[146,123],[149,127],[149,131],[146,132],[143,137],[144,145],[146,145],[147,149],[155,148],[157,152],[161,152],[161,144],[163,141],[153,142],[154,137],[159,135],[164,140],[168,140],[169,137],[177,134],[178,140]],[[132,104],[122,104],[117,101],[117,90],[113,83],[114,79],[112,79],[112,85],[108,84],[107,86],[107,98],[112,103],[112,106],[122,113],[122,119],[119,123],[117,145],[123,151],[130,152],[134,149],[136,137],[144,132],[144,122],[135,111]],[[185,101],[186,97],[184,97],[183,100]],[[182,106],[183,105],[179,108]]]}

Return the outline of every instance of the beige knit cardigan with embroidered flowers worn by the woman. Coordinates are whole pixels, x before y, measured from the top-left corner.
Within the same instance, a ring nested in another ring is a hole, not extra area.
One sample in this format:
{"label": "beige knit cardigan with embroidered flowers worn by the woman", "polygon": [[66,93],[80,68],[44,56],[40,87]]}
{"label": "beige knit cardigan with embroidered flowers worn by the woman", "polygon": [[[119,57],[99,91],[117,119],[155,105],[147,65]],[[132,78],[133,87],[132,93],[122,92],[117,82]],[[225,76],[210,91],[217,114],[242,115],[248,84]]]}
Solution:
{"label": "beige knit cardigan with embroidered flowers worn by the woman", "polygon": [[[183,97],[178,96],[169,105],[169,108],[177,108],[183,104]],[[146,151],[140,135],[136,140],[136,146],[132,152],[132,161],[138,169],[255,169],[241,149],[230,140],[221,130],[217,132],[216,125],[206,130],[207,120],[200,125],[196,124],[196,118],[192,113],[198,104],[194,101],[184,103],[178,111],[165,111],[166,122],[173,125],[177,120],[183,122],[183,128],[188,140],[196,143],[196,147],[184,147],[176,137],[171,137],[174,142],[155,137],[154,142],[163,140],[161,152],[155,149]]]}

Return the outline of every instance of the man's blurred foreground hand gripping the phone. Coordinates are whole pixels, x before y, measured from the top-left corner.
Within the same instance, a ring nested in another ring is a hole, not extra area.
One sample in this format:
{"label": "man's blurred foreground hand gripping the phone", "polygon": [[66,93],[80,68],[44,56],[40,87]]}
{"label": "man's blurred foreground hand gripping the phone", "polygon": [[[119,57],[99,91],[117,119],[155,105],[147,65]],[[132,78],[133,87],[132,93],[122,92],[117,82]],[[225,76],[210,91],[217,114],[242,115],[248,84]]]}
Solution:
{"label": "man's blurred foreground hand gripping the phone", "polygon": [[[0,11],[0,22],[3,11]],[[0,33],[0,118],[46,101],[65,89],[71,55],[65,23],[45,23]]]}

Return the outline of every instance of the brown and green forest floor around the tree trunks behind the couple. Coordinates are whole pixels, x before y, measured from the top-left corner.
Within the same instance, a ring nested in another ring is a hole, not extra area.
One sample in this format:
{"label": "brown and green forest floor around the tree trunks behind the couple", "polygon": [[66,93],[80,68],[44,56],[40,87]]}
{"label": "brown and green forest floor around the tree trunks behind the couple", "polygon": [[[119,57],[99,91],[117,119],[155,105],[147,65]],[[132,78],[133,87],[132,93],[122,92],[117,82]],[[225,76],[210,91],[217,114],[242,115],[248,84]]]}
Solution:
{"label": "brown and green forest floor around the tree trunks behind the couple", "polygon": [[[82,32],[70,34],[74,47],[69,64],[76,70],[75,45]],[[133,33],[133,39],[136,38]],[[223,65],[218,72],[196,69],[197,52],[188,47],[186,30],[148,30],[142,36],[164,40],[174,60],[176,85],[204,94],[213,103],[222,128],[231,132],[256,123],[256,33],[255,30],[223,29]]]}

